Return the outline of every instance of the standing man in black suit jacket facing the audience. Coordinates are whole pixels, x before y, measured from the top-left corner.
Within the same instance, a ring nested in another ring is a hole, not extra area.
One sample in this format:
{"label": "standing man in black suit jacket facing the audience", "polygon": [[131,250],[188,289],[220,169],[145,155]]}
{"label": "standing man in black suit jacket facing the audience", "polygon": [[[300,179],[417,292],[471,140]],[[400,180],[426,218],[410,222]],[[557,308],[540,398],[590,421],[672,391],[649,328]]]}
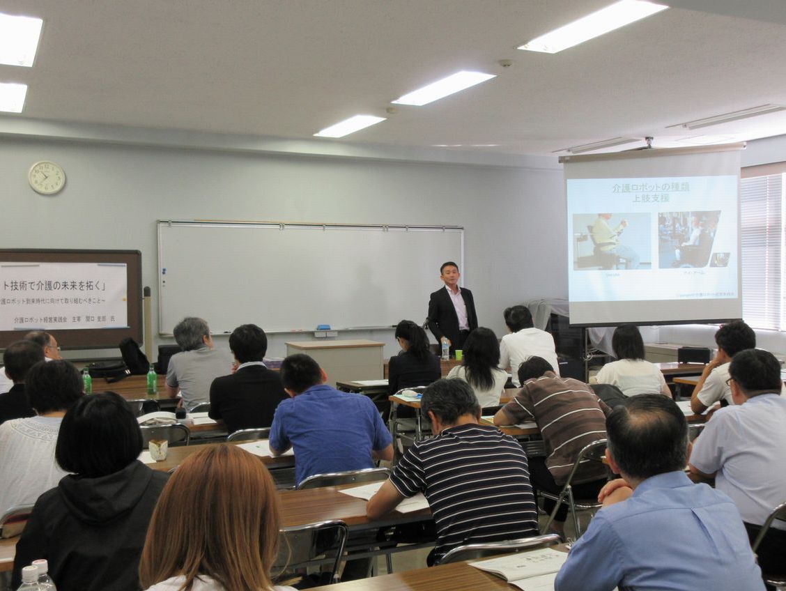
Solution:
{"label": "standing man in black suit jacket facing the audience", "polygon": [[445,287],[432,293],[428,300],[428,328],[436,340],[445,337],[450,341],[450,351],[464,347],[468,334],[478,328],[475,300],[467,288],[458,287],[459,277],[455,262],[444,263],[439,267],[439,278]]}

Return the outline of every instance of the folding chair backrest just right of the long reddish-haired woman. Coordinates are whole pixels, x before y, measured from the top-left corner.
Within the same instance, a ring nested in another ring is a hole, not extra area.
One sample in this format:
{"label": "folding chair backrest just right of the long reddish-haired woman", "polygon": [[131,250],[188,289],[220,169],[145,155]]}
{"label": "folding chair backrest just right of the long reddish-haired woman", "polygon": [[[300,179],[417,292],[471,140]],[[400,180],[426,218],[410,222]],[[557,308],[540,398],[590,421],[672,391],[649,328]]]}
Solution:
{"label": "folding chair backrest just right of the long reddish-haired woman", "polygon": [[338,571],[348,535],[347,524],[339,519],[282,527],[278,532],[278,557],[273,566],[274,574],[280,578],[283,572],[305,567],[320,557],[326,560],[330,555],[334,556],[330,582],[339,582]]}

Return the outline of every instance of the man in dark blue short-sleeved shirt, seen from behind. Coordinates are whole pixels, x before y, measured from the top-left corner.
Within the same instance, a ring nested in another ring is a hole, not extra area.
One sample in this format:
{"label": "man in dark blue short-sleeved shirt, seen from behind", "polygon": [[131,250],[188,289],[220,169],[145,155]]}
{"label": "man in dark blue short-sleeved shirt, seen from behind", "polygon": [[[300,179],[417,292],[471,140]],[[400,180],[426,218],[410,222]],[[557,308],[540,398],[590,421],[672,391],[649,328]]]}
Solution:
{"label": "man in dark blue short-sleeved shirt, seen from behind", "polygon": [[281,402],[270,428],[270,451],[295,450],[295,480],[314,474],[373,468],[393,459],[390,431],[370,398],[340,392],[314,359],[296,354],[281,363]]}

